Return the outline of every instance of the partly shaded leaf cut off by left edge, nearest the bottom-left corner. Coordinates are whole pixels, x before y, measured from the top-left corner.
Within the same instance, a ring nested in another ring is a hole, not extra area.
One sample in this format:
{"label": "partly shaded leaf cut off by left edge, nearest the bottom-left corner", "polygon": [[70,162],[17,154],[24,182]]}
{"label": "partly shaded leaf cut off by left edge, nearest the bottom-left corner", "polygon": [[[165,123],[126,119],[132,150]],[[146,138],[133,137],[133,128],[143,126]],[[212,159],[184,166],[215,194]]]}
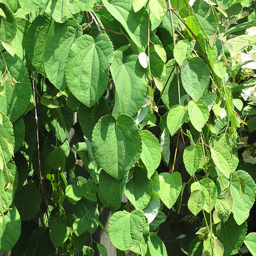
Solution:
{"label": "partly shaded leaf cut off by left edge, nearest the bottom-left corner", "polygon": [[21,219],[13,205],[6,215],[0,216],[0,252],[9,252],[17,243],[19,235],[21,235]]}

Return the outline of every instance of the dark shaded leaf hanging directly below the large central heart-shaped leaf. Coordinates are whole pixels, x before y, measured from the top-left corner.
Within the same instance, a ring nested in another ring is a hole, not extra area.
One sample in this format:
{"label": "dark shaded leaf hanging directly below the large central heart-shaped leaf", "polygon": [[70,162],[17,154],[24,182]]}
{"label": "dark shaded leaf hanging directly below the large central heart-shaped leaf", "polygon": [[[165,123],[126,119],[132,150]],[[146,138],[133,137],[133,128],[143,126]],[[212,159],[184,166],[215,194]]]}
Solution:
{"label": "dark shaded leaf hanging directly below the large central heart-shaped leaf", "polygon": [[106,207],[112,206],[119,209],[122,203],[122,191],[124,190],[126,176],[122,180],[116,180],[104,170],[100,172],[98,196]]}

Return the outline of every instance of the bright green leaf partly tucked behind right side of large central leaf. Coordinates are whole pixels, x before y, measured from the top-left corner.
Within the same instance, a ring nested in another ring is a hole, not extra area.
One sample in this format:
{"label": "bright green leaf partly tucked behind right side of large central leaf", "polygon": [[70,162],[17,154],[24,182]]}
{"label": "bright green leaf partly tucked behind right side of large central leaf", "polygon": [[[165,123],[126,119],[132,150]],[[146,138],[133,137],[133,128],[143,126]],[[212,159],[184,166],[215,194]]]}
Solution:
{"label": "bright green leaf partly tucked behind right side of large central leaf", "polygon": [[161,148],[156,137],[150,131],[141,130],[142,152],[140,158],[147,169],[147,178],[150,179],[161,161]]}

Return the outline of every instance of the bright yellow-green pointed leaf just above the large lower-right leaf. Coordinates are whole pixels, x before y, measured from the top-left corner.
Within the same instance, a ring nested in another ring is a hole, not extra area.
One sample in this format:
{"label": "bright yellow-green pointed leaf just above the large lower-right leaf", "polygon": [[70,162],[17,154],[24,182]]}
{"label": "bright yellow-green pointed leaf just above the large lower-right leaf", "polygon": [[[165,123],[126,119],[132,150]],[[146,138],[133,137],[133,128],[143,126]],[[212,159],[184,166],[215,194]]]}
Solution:
{"label": "bright yellow-green pointed leaf just above the large lower-right leaf", "polygon": [[220,173],[229,178],[233,170],[232,158],[227,149],[221,146],[211,147],[211,158],[219,169]]}

